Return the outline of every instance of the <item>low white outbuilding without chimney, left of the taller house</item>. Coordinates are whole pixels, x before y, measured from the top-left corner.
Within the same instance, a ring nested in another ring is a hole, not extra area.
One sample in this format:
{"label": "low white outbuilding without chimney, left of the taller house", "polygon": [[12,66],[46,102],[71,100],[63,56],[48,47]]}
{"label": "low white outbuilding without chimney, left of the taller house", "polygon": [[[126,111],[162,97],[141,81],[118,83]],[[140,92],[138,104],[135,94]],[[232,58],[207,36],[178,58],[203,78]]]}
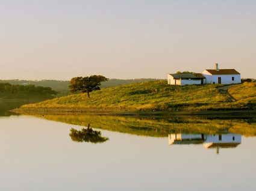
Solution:
{"label": "low white outbuilding without chimney, left of the taller house", "polygon": [[168,74],[167,80],[170,85],[193,85],[203,84],[205,77],[199,73]]}

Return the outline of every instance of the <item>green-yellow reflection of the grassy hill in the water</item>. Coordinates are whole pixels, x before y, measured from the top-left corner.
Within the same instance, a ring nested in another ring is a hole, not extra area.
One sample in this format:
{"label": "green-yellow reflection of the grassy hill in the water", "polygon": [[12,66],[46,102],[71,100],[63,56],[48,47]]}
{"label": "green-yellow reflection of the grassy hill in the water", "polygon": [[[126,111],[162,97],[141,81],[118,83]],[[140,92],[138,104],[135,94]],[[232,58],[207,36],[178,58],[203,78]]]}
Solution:
{"label": "green-yellow reflection of the grassy hill in the water", "polygon": [[40,115],[47,120],[87,127],[109,130],[111,132],[128,133],[139,136],[166,138],[167,135],[182,133],[183,135],[219,135],[239,134],[256,136],[256,120],[249,119],[207,119],[201,117],[168,117],[138,118],[99,115]]}

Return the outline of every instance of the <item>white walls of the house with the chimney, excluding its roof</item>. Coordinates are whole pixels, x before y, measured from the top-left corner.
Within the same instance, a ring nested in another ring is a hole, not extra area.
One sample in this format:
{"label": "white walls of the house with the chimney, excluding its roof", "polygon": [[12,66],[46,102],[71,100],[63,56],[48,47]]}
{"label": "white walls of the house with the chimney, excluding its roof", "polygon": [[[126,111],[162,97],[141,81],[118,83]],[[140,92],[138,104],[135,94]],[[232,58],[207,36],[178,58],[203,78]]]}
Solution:
{"label": "white walls of the house with the chimney, excluding its roof", "polygon": [[[218,83],[218,77],[221,77],[221,83],[222,84],[231,84],[231,83],[241,83],[241,75],[240,74],[225,74],[225,75],[212,75],[208,73],[208,71],[204,70],[202,72],[204,75],[205,83]],[[234,77],[234,81],[232,80],[232,77]]]}

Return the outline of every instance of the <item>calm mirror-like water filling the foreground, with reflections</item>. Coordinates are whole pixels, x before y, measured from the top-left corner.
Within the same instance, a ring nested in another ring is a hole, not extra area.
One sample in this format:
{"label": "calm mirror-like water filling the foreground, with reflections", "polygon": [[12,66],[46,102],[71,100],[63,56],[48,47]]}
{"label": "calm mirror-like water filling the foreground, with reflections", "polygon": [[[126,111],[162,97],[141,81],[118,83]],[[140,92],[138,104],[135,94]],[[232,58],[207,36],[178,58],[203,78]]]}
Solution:
{"label": "calm mirror-like water filling the foreground, with reflections", "polygon": [[[256,188],[254,119],[10,116],[0,124],[0,190]],[[87,126],[107,139],[90,142]]]}

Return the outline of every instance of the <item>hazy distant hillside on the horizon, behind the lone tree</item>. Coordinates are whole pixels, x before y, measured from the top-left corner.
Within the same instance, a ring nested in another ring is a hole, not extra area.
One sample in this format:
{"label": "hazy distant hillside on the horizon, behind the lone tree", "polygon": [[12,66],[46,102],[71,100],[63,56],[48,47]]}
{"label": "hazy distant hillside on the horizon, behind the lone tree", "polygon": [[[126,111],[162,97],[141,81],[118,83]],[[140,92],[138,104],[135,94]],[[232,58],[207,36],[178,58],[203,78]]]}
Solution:
{"label": "hazy distant hillside on the horizon, behind the lone tree", "polygon": [[[113,86],[119,85],[126,85],[130,83],[137,83],[137,82],[149,82],[154,81],[157,79],[109,79],[106,82],[102,82],[102,88],[110,88]],[[0,83],[10,83],[11,85],[36,85],[36,86],[43,86],[43,87],[51,87],[55,91],[58,92],[58,97],[60,96],[67,96],[70,94],[69,91],[69,81],[61,81],[61,80],[0,80]]]}

